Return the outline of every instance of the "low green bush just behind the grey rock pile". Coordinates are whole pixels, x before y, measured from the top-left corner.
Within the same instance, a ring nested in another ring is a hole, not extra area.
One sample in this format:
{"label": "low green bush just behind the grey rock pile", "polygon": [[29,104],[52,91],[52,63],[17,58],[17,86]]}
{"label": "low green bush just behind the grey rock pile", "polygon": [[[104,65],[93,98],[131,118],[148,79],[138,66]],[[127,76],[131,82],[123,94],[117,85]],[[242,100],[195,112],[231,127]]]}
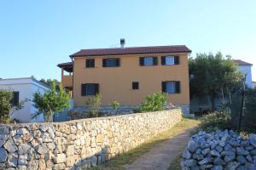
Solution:
{"label": "low green bush just behind the grey rock pile", "polygon": [[200,128],[205,131],[215,131],[217,129],[224,130],[230,129],[231,117],[227,113],[223,112],[213,112],[201,119]]}

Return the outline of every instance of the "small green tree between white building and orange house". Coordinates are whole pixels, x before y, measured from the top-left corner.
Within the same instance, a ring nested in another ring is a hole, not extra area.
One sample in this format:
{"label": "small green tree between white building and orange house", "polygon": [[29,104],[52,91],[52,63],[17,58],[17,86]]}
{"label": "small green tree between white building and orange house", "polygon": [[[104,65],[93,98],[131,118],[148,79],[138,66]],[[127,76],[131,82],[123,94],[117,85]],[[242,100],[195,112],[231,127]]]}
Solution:
{"label": "small green tree between white building and orange house", "polygon": [[34,102],[35,108],[38,109],[33,117],[43,113],[46,122],[52,122],[52,116],[56,111],[61,112],[69,107],[69,97],[67,93],[61,85],[60,90],[57,92],[55,82],[51,83],[50,90],[44,94],[40,94],[39,92],[33,94],[32,101]]}

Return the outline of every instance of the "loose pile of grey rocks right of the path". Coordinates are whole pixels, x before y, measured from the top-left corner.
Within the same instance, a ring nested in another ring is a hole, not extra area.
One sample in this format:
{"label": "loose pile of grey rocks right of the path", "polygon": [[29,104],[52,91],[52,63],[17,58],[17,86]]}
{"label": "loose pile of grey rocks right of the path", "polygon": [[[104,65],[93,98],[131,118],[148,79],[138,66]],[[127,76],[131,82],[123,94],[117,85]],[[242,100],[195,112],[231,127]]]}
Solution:
{"label": "loose pile of grey rocks right of the path", "polygon": [[183,169],[256,169],[256,134],[248,138],[234,131],[200,131],[183,151]]}

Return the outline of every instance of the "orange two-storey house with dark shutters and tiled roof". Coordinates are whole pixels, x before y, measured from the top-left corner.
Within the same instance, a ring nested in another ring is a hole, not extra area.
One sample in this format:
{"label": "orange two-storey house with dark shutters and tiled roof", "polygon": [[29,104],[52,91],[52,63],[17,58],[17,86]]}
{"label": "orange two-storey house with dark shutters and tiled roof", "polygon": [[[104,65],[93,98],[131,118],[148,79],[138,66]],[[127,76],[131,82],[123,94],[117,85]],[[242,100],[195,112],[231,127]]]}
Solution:
{"label": "orange two-storey house with dark shutters and tiled roof", "polygon": [[74,106],[84,106],[96,94],[102,105],[117,100],[136,107],[145,97],[160,91],[168,101],[189,113],[189,66],[191,50],[184,45],[82,49],[61,63],[61,82],[73,91]]}

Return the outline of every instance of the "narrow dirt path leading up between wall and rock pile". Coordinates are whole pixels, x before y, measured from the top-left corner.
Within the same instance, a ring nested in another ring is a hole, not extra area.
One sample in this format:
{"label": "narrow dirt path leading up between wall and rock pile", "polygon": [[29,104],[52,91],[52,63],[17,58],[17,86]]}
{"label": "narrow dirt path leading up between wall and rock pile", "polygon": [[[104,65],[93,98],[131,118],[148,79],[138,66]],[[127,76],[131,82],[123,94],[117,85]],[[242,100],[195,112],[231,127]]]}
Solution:
{"label": "narrow dirt path leading up between wall and rock pile", "polygon": [[170,163],[180,154],[189,141],[190,132],[195,127],[189,128],[183,133],[177,134],[172,139],[167,139],[146,154],[139,157],[137,161],[126,164],[126,170],[166,170]]}

